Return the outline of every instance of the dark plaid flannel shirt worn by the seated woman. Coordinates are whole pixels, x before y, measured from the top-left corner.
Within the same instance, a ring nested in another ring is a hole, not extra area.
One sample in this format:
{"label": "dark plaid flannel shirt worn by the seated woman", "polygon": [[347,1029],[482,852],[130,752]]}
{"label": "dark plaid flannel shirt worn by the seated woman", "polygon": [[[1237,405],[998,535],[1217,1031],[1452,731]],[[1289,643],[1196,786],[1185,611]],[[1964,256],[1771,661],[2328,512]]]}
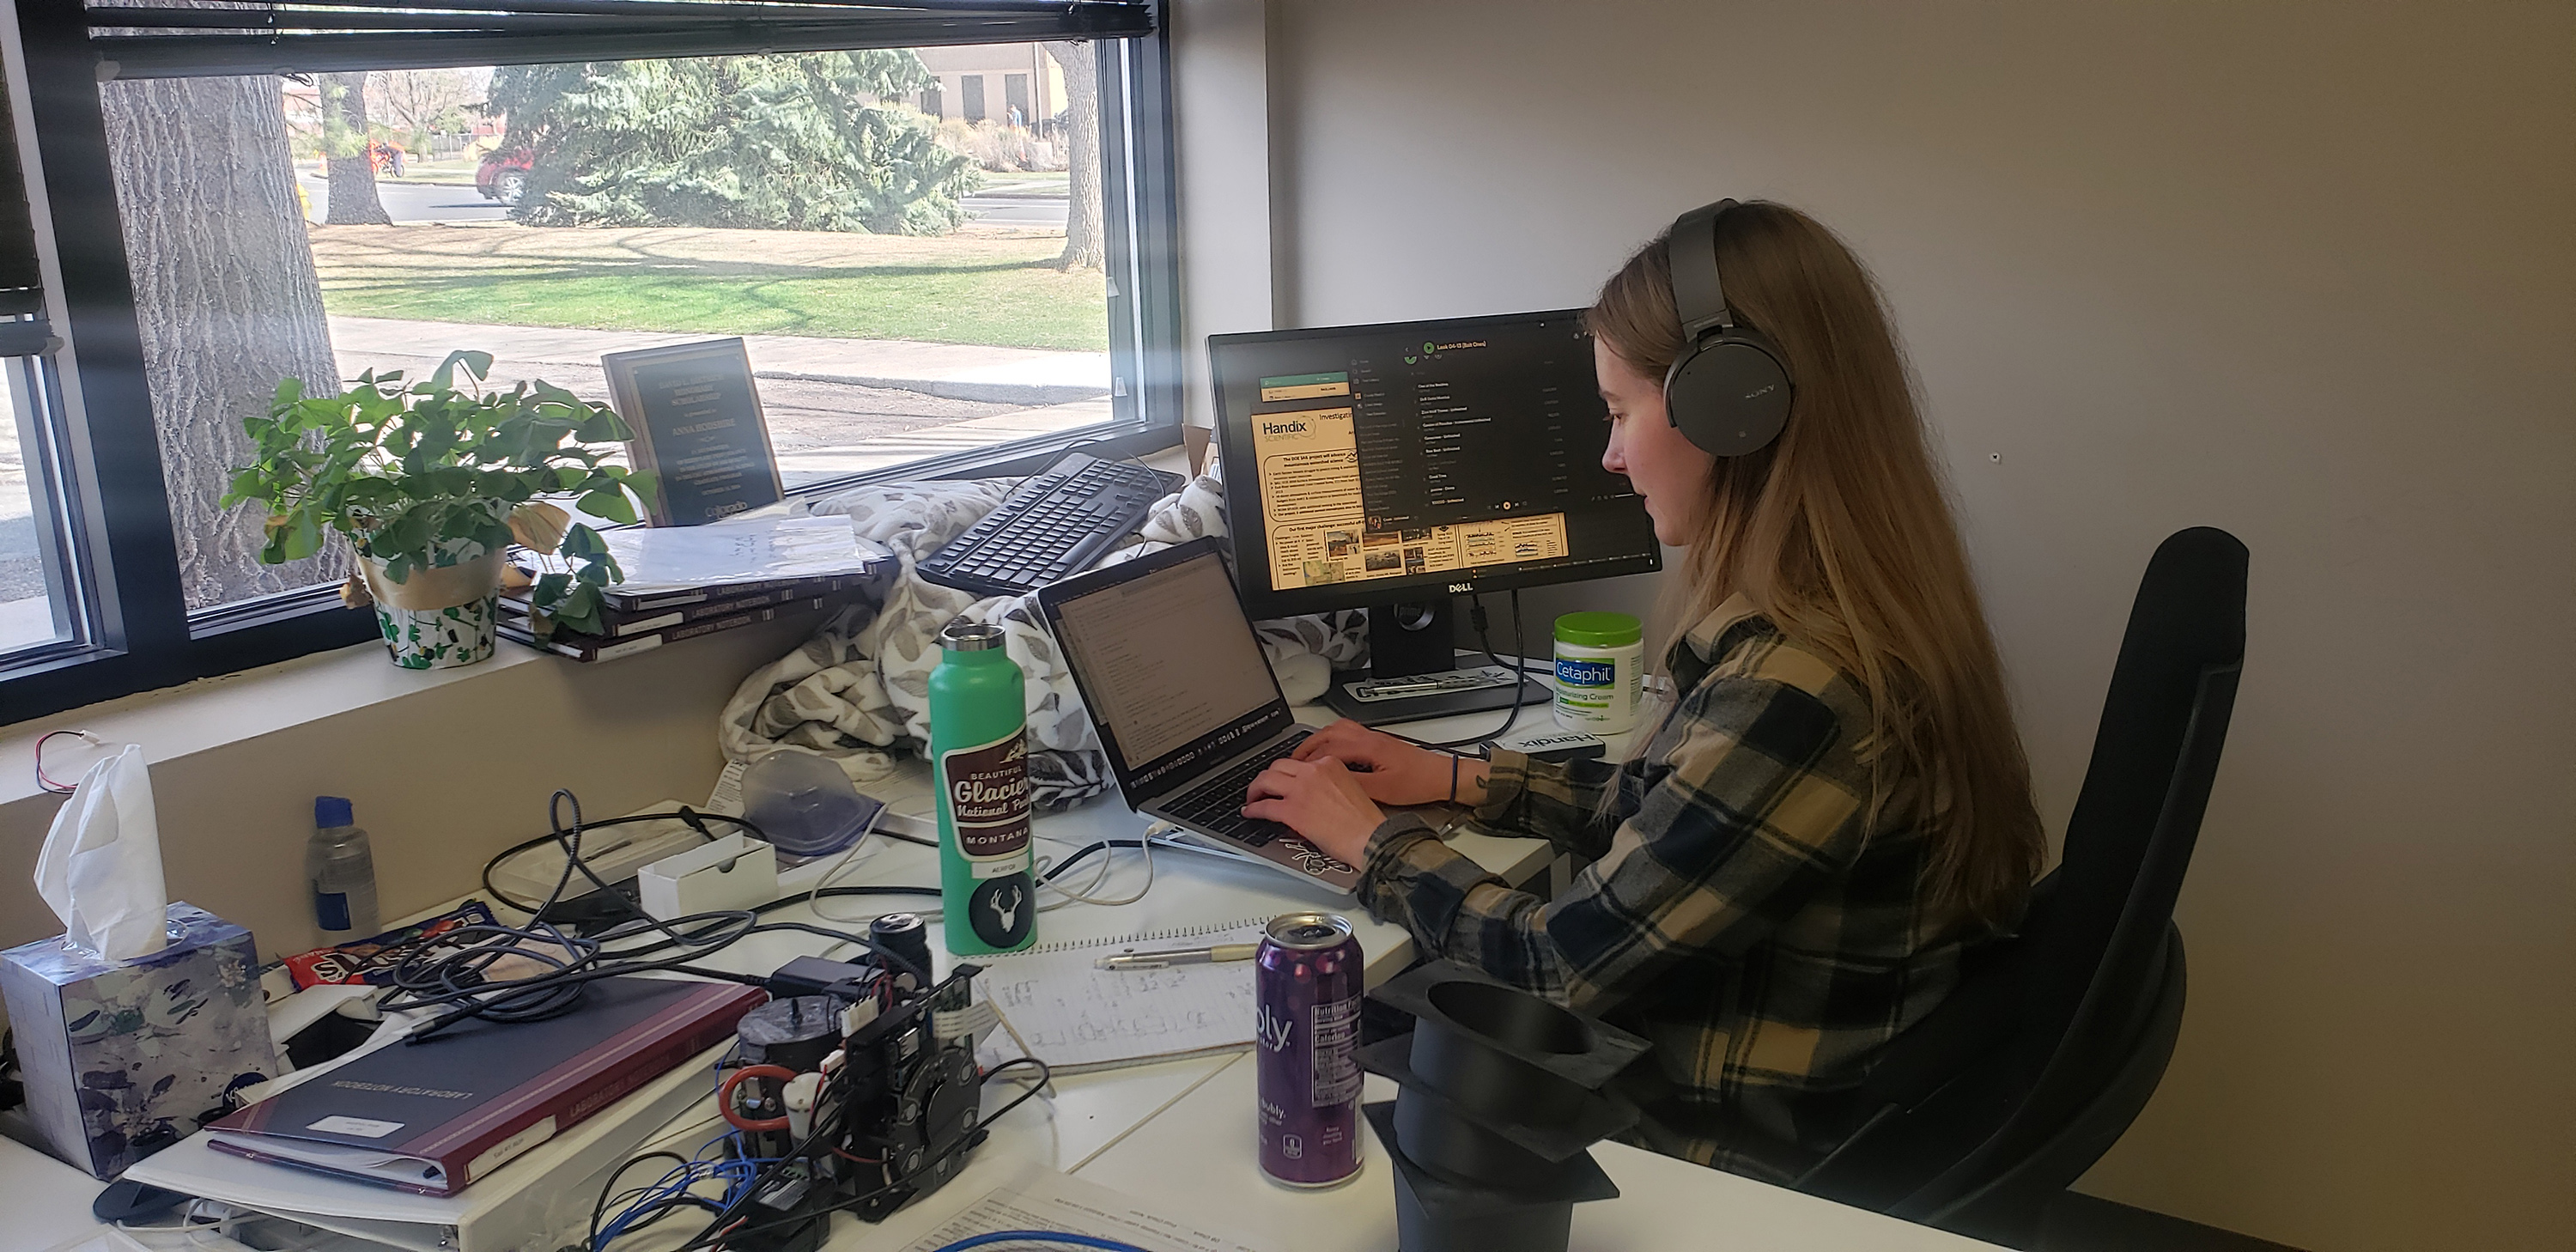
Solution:
{"label": "dark plaid flannel shirt worn by the seated woman", "polygon": [[1360,899],[1425,956],[1654,1041],[1620,1077],[1646,1113],[1633,1141],[1785,1177],[1855,1128],[1870,1059],[1950,994],[1973,935],[1917,889],[1911,783],[1883,781],[1870,819],[1857,683],[1744,598],[1667,665],[1680,706],[1625,765],[1494,752],[1479,824],[1592,858],[1569,891],[1512,891],[1396,814]]}

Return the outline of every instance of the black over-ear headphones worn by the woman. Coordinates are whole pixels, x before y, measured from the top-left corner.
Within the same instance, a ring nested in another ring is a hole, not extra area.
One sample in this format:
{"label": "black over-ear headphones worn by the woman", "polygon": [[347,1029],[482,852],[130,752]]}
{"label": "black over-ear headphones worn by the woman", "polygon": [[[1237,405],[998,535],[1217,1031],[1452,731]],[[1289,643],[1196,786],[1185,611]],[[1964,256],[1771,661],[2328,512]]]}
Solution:
{"label": "black over-ear headphones worn by the woman", "polygon": [[1780,350],[1736,325],[1718,289],[1718,219],[1736,201],[1703,204],[1672,222],[1672,304],[1682,314],[1682,356],[1664,371],[1664,417],[1716,456],[1744,456],[1780,438],[1790,381]]}

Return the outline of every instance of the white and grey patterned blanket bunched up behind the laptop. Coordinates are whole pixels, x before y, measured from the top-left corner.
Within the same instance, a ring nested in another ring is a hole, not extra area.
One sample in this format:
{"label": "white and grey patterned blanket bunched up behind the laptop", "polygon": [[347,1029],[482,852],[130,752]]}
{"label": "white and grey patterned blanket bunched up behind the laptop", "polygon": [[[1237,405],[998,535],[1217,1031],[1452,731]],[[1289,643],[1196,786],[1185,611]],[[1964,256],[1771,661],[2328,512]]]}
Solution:
{"label": "white and grey patterned blanket bunched up behind the laptop", "polygon": [[[1010,659],[1028,675],[1028,778],[1041,806],[1064,806],[1115,786],[1082,693],[1046,634],[1033,595],[976,598],[925,582],[914,562],[940,551],[992,513],[1015,479],[889,482],[799,502],[799,515],[845,515],[902,562],[884,595],[835,613],[796,652],[755,670],[726,701],[716,726],[724,755],[752,760],[801,750],[829,757],[860,783],[896,770],[899,755],[927,757],[930,670],[938,634],[956,618],[997,623]],[[1198,477],[1162,497],[1136,544],[1097,567],[1198,536],[1224,536],[1224,484]],[[1368,616],[1332,613],[1257,623],[1262,649],[1291,703],[1324,693],[1332,670],[1365,665]]]}

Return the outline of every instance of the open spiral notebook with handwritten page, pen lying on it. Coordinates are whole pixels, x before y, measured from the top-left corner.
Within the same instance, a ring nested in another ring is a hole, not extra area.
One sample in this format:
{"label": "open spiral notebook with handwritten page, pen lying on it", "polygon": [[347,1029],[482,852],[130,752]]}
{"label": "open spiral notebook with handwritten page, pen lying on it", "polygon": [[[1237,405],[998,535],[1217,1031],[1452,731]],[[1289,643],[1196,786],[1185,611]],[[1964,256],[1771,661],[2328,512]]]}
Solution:
{"label": "open spiral notebook with handwritten page, pen lying on it", "polygon": [[[981,958],[984,994],[1023,1054],[1056,1074],[1252,1046],[1252,961],[1100,969],[1121,951],[1260,943],[1267,920],[1077,943]],[[994,1038],[999,1043],[999,1036]],[[1007,1059],[1007,1051],[1002,1054]]]}

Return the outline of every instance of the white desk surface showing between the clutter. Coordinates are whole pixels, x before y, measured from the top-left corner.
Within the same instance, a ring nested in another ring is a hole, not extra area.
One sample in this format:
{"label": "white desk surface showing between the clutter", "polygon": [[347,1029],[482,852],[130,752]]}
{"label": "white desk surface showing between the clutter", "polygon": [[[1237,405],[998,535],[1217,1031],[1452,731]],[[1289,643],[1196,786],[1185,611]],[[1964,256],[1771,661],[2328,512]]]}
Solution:
{"label": "white desk surface showing between the clutter", "polygon": [[[1445,737],[1489,726],[1492,714],[1473,714],[1422,729],[1430,732],[1427,737]],[[1038,835],[1082,845],[1100,837],[1133,837],[1144,824],[1123,804],[1105,799],[1041,817]],[[1548,863],[1548,848],[1538,840],[1463,835],[1455,842],[1481,866],[1512,881],[1528,878]],[[1066,850],[1059,848],[1059,855]],[[1131,894],[1141,886],[1141,858],[1121,853],[1121,866],[1100,891],[1113,899]],[[842,881],[930,886],[938,884],[938,853],[886,842]],[[1054,909],[1038,922],[1038,933],[1041,940],[1113,938],[1311,907],[1352,917],[1368,953],[1370,982],[1383,982],[1412,961],[1412,938],[1404,930],[1370,920],[1347,899],[1278,871],[1177,850],[1154,853],[1154,889],[1141,902]],[[866,917],[866,904],[848,896],[827,899],[824,909]],[[783,909],[778,917],[814,920],[801,907]],[[796,933],[752,935],[708,963],[768,971],[819,943]],[[933,943],[933,951],[940,945]],[[945,953],[940,956],[945,958]],[[1262,1180],[1255,1164],[1252,1072],[1255,1067],[1242,1061],[1242,1054],[1231,1054],[1061,1077],[1054,1097],[1030,1100],[992,1123],[992,1141],[976,1149],[969,1167],[935,1195],[894,1213],[884,1226],[842,1219],[827,1247],[842,1252],[902,1249],[984,1193],[1061,1170],[1136,1195],[1175,1219],[1231,1231],[1275,1252],[1391,1249],[1394,1182],[1383,1149],[1373,1146],[1363,1175],[1337,1190],[1303,1193]],[[1015,1095],[1012,1087],[997,1085],[987,1108],[997,1108],[1010,1095]],[[1391,1095],[1383,1079],[1370,1079],[1370,1100]],[[1710,1247],[1716,1234],[1723,1234],[1718,1242],[1731,1247],[1814,1252],[1989,1247],[1620,1144],[1597,1146],[1595,1159],[1623,1195],[1577,1206],[1577,1249],[1698,1249]],[[502,1185],[505,1177],[487,1185]],[[10,1213],[8,1239],[0,1242],[44,1249],[95,1231],[88,1216],[88,1200],[95,1190],[98,1182],[77,1170],[0,1141],[0,1211]],[[621,1242],[618,1252],[652,1252],[680,1242],[680,1237],[685,1231],[675,1229],[670,1237],[649,1231]]]}

